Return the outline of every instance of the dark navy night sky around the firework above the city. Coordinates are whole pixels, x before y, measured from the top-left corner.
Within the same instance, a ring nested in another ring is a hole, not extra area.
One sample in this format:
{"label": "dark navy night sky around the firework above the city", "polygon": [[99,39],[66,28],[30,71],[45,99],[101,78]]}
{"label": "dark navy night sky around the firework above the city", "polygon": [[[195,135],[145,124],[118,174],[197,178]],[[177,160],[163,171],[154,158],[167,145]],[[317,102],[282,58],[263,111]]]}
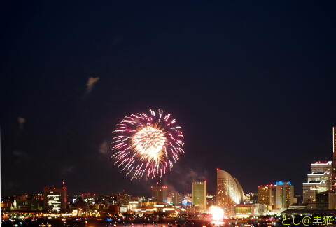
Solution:
{"label": "dark navy night sky around the firework above the city", "polygon": [[302,193],[309,163],[332,156],[332,1],[183,2],[1,4],[2,195],[62,179],[69,193],[148,195],[153,181],[130,181],[99,148],[150,108],[186,137],[170,187],[205,178],[214,192],[219,167],[244,191],[282,180]]}

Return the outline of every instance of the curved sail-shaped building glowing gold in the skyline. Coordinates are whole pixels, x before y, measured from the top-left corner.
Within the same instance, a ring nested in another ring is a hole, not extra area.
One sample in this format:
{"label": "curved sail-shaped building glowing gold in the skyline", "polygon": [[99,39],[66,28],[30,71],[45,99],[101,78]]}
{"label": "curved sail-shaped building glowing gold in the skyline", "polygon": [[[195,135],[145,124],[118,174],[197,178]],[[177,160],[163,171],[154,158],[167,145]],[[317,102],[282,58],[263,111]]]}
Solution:
{"label": "curved sail-shaped building glowing gold in the skyline", "polygon": [[217,205],[225,211],[225,216],[234,215],[233,206],[244,202],[243,188],[228,172],[217,169]]}

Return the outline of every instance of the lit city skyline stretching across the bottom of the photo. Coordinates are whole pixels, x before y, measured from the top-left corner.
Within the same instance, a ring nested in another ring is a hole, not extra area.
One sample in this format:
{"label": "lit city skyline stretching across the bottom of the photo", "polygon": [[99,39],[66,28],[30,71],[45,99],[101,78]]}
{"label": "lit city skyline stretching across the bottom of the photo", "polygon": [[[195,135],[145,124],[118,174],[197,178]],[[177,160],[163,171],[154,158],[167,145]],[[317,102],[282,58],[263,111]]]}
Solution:
{"label": "lit city skyline stretching across the bottom of the photo", "polygon": [[[335,135],[335,128],[332,128],[332,135]],[[335,144],[335,137],[332,137],[332,144]],[[142,149],[141,151],[144,152]],[[307,183],[303,183],[302,197],[295,195],[290,181],[275,181],[275,184],[258,186],[258,193],[244,193],[236,177],[216,168],[216,195],[208,193],[207,180],[191,181],[192,193],[174,191],[174,188],[157,182],[151,186],[151,197],[148,198],[144,194],[134,196],[126,191],[109,195],[92,192],[68,195],[66,182],[62,181],[62,187],[45,187],[43,194],[2,195],[1,212],[6,220],[21,214],[27,219],[31,216],[41,218],[59,215],[58,218],[67,216],[70,219],[74,216],[93,216],[99,220],[102,220],[99,216],[104,215],[107,216],[106,221],[119,214],[131,214],[140,219],[153,215],[168,215],[175,219],[188,216],[192,220],[209,220],[210,214],[213,220],[221,221],[223,217],[251,219],[252,216],[265,215],[272,219],[269,216],[283,212],[296,214],[297,211],[334,213],[336,194],[335,185],[332,186],[332,167],[332,161],[311,163]]]}

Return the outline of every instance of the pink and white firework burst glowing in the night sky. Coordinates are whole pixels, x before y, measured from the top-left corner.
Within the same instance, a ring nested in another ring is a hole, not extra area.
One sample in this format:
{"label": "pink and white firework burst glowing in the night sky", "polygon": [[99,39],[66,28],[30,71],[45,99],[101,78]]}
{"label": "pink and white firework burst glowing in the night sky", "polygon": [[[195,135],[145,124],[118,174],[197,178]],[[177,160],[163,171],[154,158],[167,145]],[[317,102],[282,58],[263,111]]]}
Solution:
{"label": "pink and white firework burst glowing in the night sky", "polygon": [[131,179],[162,177],[184,153],[181,127],[160,109],[125,116],[113,134],[114,164]]}

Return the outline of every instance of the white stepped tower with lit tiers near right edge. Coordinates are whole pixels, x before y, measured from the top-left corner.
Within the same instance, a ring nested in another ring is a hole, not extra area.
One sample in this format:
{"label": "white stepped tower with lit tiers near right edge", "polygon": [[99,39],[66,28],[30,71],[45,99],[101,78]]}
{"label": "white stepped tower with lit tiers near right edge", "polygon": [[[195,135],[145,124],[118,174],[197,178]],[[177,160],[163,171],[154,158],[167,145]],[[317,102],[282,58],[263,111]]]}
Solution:
{"label": "white stepped tower with lit tiers near right edge", "polygon": [[307,174],[308,182],[303,183],[303,203],[309,208],[316,208],[316,194],[331,188],[332,162],[311,163],[311,173]]}

